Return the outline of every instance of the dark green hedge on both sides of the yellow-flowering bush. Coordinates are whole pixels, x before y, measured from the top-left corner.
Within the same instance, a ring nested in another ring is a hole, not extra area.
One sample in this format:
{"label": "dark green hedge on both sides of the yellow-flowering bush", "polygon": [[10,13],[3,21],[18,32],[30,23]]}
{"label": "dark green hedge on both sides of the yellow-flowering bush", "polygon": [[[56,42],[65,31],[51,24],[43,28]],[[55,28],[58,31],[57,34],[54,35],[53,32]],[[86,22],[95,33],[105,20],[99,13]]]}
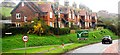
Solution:
{"label": "dark green hedge on both sides of the yellow-flowering bush", "polygon": [[[27,32],[30,30],[31,28],[29,27],[14,27],[14,28],[4,28],[2,29],[2,35],[5,35],[5,33],[12,33],[12,35],[16,35],[16,34],[27,34]],[[49,27],[45,30],[45,32],[42,35],[51,35],[55,34],[55,35],[65,35],[65,34],[69,34],[70,33],[70,28],[53,28],[53,27]]]}

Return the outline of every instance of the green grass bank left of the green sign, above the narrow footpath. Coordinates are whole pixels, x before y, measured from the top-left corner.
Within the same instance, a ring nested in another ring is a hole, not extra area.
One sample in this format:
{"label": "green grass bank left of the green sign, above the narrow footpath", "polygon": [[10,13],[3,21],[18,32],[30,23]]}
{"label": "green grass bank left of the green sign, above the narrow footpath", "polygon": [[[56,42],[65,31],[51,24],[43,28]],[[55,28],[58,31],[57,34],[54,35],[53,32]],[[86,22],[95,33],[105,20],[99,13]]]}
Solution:
{"label": "green grass bank left of the green sign, above the narrow footpath", "polygon": [[[21,34],[5,37],[2,39],[2,50],[8,51],[15,48],[23,48],[24,42],[22,41]],[[71,43],[77,42],[76,34],[62,35],[59,37],[56,36],[37,36],[37,35],[28,35],[29,41],[27,42],[27,47],[34,46],[45,46],[45,45],[60,45],[62,43]]]}

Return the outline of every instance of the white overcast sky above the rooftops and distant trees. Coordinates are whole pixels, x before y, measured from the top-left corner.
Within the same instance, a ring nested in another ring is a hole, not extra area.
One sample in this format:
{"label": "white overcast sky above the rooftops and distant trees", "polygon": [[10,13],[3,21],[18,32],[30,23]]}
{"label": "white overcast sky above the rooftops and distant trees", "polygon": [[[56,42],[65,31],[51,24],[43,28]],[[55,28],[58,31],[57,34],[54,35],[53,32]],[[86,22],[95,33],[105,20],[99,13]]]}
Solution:
{"label": "white overcast sky above the rooftops and distant trees", "polygon": [[[3,1],[3,0],[1,0]],[[1,2],[0,1],[0,2]],[[12,0],[15,3],[18,3],[19,0]],[[47,0],[53,2],[54,0]],[[109,13],[118,13],[118,2],[120,0],[68,0],[70,6],[73,2],[76,2],[77,5],[83,4],[89,7],[93,12],[98,12],[99,10],[107,10]],[[61,5],[64,5],[64,0],[59,0]]]}

